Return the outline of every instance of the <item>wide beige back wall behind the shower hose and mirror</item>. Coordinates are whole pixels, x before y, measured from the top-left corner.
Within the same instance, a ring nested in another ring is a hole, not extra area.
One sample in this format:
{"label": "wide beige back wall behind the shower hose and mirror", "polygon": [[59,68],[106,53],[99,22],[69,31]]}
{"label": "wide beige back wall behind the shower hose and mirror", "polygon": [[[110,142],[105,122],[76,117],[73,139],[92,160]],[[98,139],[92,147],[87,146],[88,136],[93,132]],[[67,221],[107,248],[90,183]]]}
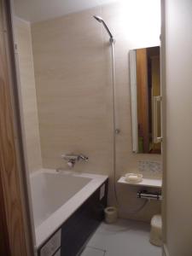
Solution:
{"label": "wide beige back wall behind the shower hose and mirror", "polygon": [[[86,154],[89,162],[78,163],[74,170],[108,174],[110,204],[114,203],[111,49],[107,32],[92,15],[101,15],[106,20],[116,40],[118,178],[126,172],[139,172],[139,160],[160,160],[160,155],[133,154],[131,149],[128,52],[160,44],[153,8],[149,14],[142,9],[127,6],[124,13],[124,7],[113,3],[32,24],[43,166],[67,168],[61,154]],[[134,12],[143,15],[143,23],[138,24]],[[144,172],[144,175],[160,177],[161,172]],[[143,201],[137,200],[136,188],[117,185],[117,190],[123,206],[121,216],[148,220],[154,212],[160,211],[160,204],[152,202],[144,211],[128,215],[127,212]]]}

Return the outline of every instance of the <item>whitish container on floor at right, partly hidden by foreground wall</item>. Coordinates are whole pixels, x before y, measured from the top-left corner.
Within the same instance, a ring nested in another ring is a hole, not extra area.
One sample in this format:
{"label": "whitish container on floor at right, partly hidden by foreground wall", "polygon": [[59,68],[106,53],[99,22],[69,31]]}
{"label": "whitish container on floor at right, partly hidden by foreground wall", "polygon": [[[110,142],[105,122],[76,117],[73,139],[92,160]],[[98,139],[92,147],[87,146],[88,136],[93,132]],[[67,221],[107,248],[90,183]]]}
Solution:
{"label": "whitish container on floor at right, partly hidden by foreground wall", "polygon": [[151,218],[150,242],[155,246],[162,246],[162,219],[161,215]]}

